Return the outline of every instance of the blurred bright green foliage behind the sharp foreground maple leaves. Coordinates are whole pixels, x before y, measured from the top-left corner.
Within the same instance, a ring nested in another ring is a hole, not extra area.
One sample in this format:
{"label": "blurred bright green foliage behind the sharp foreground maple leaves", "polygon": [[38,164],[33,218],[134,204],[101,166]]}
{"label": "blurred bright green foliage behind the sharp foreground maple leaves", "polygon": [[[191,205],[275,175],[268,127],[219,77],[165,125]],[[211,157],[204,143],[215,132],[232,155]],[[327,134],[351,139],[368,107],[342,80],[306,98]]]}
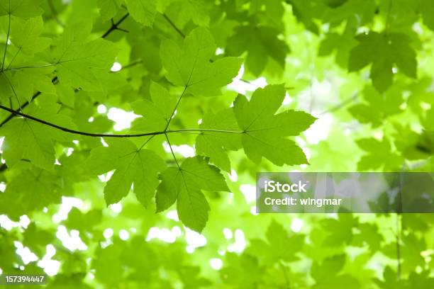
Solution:
{"label": "blurred bright green foliage behind the sharp foreground maple leaves", "polygon": [[[89,30],[89,39],[116,45],[99,88],[60,83],[44,91],[26,75],[13,80],[27,89],[17,92],[21,103],[41,91],[38,106],[60,103],[79,130],[130,132],[131,103],[150,98],[151,81],[179,96],[165,79],[160,42],[182,45],[198,26],[216,41],[213,60],[241,56],[243,68],[221,96],[186,96],[174,127],[196,128],[237,94],[282,83],[282,110],[318,120],[296,137],[308,165],[255,164],[230,152],[232,171],[222,172],[230,193],[206,192],[211,211],[201,234],[184,227],[174,208],[155,214],[155,205],[144,208],[132,194],[107,207],[108,175],[83,173],[99,138],[55,142],[52,171],[2,161],[2,273],[45,270],[48,288],[434,288],[434,215],[257,215],[254,187],[257,171],[433,171],[432,1],[0,0],[2,52],[9,5],[21,5],[13,29],[29,25],[40,35],[11,35],[6,63],[28,52],[12,67],[50,62],[65,26],[75,26],[74,37]],[[57,75],[55,67],[40,70]],[[1,104],[16,108],[5,81]],[[178,159],[194,155],[196,135],[171,140]],[[163,142],[155,137],[149,146],[174,165]]]}

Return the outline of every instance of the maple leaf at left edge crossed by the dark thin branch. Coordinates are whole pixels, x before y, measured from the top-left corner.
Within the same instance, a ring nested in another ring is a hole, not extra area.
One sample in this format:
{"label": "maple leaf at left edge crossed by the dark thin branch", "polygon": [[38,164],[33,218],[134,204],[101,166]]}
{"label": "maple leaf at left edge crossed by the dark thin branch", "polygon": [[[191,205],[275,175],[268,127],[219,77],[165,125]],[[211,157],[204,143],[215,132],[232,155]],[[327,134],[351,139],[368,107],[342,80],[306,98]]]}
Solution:
{"label": "maple leaf at left edge crossed by the dark thin branch", "polygon": [[[59,114],[59,110],[60,105],[57,103],[44,103],[43,106],[36,106],[32,103],[26,113],[35,118],[74,129],[74,123],[66,115]],[[13,118],[1,128],[0,132],[5,136],[3,158],[8,166],[13,166],[21,159],[28,159],[35,166],[52,170],[55,164],[54,140],[59,142],[74,140],[67,132],[27,118]]]}

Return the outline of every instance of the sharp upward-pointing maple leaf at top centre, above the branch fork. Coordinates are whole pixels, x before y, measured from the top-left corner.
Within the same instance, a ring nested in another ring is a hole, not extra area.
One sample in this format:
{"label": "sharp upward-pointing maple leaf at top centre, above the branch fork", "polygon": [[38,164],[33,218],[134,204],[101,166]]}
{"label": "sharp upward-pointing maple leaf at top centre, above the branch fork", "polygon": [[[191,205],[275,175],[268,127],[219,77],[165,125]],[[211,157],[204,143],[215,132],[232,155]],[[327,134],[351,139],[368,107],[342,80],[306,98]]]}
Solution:
{"label": "sharp upward-pointing maple leaf at top centre, above the branch fork", "polygon": [[184,86],[185,93],[195,96],[221,94],[221,87],[230,84],[237,76],[242,60],[238,57],[223,57],[210,62],[216,48],[206,28],[192,30],[182,48],[172,40],[163,40],[160,54],[167,70],[166,78],[172,84]]}

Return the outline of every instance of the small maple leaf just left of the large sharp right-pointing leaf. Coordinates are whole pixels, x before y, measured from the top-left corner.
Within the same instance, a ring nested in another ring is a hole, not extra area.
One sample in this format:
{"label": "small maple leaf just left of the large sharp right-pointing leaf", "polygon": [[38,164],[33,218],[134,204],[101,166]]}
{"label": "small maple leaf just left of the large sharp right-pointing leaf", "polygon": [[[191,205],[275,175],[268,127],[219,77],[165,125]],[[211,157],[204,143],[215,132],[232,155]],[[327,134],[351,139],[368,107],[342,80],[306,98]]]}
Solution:
{"label": "small maple leaf just left of the large sharp right-pointing leaf", "polygon": [[[239,131],[231,108],[214,114],[208,112],[199,128],[204,130]],[[230,160],[226,149],[237,150],[242,147],[239,134],[230,132],[202,131],[196,138],[196,152],[210,158],[213,164],[230,172]]]}

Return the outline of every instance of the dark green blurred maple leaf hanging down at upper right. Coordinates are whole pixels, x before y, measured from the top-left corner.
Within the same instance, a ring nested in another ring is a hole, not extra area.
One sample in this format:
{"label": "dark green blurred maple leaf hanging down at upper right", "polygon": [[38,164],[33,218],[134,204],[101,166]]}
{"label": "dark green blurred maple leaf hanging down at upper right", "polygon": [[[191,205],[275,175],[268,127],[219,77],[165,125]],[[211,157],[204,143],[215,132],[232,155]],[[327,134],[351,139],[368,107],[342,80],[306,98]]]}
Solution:
{"label": "dark green blurred maple leaf hanging down at upper right", "polygon": [[411,40],[404,33],[369,32],[357,36],[359,44],[350,52],[348,70],[355,72],[371,66],[371,79],[374,87],[386,91],[394,79],[392,69],[396,66],[408,77],[417,77],[416,52]]}

